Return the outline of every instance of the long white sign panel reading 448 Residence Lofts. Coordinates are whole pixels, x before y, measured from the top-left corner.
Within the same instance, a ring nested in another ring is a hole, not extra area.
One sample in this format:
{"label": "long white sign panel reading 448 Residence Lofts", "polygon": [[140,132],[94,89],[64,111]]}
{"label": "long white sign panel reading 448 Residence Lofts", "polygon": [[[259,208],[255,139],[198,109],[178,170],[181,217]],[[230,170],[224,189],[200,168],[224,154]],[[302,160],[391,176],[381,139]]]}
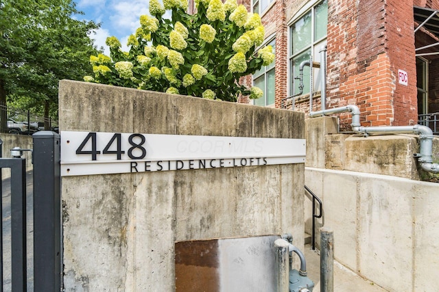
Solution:
{"label": "long white sign panel reading 448 Residence Lofts", "polygon": [[62,131],[61,175],[304,163],[304,139]]}

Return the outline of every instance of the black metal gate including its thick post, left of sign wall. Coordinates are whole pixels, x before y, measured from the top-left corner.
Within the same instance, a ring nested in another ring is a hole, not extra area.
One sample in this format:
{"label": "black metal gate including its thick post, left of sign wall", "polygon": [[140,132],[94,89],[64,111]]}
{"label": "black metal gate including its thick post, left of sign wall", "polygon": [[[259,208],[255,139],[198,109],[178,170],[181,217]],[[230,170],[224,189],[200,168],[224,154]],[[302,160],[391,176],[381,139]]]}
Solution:
{"label": "black metal gate including its thick post, left of sign wall", "polygon": [[[0,158],[1,169],[10,168],[10,233],[3,234],[3,196],[0,200],[1,240],[0,278],[1,286],[8,291],[60,291],[62,286],[61,249],[61,201],[60,201],[60,135],[51,131],[40,131],[32,135],[33,161],[33,248],[27,247],[27,194],[26,168],[23,158]],[[1,157],[0,140],[0,157]],[[21,156],[21,155],[20,155]],[[0,179],[0,191],[3,186]],[[8,230],[9,232],[9,230]],[[10,239],[10,240],[9,240]],[[10,242],[10,247],[3,246]],[[10,248],[8,258],[11,265],[6,268],[3,250]],[[30,256],[29,256],[30,254]],[[33,256],[32,265],[27,265],[27,257]],[[10,276],[10,284],[5,285],[5,273]],[[33,275],[33,276],[32,276]],[[27,282],[33,285],[27,287]]]}

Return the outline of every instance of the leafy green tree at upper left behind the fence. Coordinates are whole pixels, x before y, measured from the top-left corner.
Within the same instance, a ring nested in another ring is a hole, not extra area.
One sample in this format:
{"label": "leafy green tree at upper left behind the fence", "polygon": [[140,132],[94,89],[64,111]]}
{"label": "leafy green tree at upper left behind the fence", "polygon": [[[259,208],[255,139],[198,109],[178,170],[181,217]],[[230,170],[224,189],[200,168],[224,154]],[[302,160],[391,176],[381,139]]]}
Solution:
{"label": "leafy green tree at upper left behind the fence", "polygon": [[0,0],[0,105],[24,98],[45,118],[56,112],[58,81],[82,79],[97,53],[88,35],[99,25],[71,18],[81,13],[72,0]]}

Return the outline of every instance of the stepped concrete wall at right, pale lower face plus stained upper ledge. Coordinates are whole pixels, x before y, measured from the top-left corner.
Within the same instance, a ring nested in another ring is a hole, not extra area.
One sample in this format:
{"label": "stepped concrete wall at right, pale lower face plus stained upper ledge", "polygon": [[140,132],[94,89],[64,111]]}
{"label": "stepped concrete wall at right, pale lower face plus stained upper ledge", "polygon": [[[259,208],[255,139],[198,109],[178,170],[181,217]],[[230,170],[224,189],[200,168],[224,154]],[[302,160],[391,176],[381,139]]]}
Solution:
{"label": "stepped concrete wall at right, pale lower face plus stained upper ledge", "polygon": [[[316,243],[327,226],[336,260],[360,276],[388,291],[439,291],[439,184],[419,181],[418,137],[337,134],[333,117],[305,124],[305,185],[323,202]],[[311,199],[304,211],[311,234]]]}

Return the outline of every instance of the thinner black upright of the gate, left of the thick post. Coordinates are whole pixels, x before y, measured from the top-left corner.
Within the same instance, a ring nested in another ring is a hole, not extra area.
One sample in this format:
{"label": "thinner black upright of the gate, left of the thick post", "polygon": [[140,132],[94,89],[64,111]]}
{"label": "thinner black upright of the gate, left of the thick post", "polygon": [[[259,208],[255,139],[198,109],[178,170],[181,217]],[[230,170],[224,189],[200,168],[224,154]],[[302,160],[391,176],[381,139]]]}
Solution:
{"label": "thinner black upright of the gate, left of the thick post", "polygon": [[8,159],[11,168],[12,292],[27,290],[26,159]]}

